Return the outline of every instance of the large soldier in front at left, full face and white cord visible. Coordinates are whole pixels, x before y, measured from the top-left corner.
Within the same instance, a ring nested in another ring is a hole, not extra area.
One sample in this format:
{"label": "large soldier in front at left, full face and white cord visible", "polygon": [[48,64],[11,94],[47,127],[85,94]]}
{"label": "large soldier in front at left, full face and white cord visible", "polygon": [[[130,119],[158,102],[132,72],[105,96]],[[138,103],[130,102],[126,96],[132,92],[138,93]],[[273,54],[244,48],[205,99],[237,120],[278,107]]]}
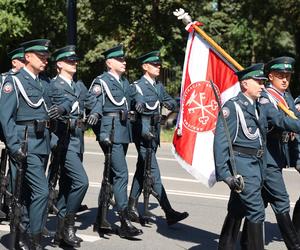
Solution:
{"label": "large soldier in front at left, full face and white cord visible", "polygon": [[[25,53],[25,66],[5,79],[0,99],[0,120],[11,160],[14,165],[24,163],[26,166],[22,195],[29,224],[23,226],[30,235],[31,249],[42,249],[41,233],[46,222],[48,200],[45,167],[50,152],[48,111],[51,100],[49,81],[40,73],[48,63],[49,43],[47,39],[38,39],[21,44]],[[20,143],[25,128],[28,128],[27,154],[23,152]],[[16,175],[16,168],[12,168],[11,173],[12,176]],[[22,234],[18,236],[16,247],[28,249],[22,241]]]}

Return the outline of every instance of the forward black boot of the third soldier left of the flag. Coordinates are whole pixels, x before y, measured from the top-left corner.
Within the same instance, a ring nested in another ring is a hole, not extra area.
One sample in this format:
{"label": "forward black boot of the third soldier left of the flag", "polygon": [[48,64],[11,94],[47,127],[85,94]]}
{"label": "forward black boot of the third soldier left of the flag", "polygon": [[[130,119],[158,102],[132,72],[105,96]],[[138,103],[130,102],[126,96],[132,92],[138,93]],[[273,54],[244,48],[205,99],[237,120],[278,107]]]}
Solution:
{"label": "forward black boot of the third soldier left of the flag", "polygon": [[75,235],[75,214],[65,216],[63,229],[63,243],[72,247],[80,247],[80,241]]}

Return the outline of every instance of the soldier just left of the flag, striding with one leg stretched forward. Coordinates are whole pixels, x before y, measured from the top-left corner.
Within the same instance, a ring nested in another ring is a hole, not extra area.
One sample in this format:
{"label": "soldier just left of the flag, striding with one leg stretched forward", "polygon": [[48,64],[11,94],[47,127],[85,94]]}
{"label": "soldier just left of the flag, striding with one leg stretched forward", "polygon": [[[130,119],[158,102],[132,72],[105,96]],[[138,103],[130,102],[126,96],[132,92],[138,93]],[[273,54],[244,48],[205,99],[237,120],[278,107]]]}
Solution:
{"label": "soldier just left of the flag, striding with one leg stretched forward", "polygon": [[[163,105],[169,110],[174,110],[176,107],[176,102],[166,92],[162,83],[156,80],[156,78],[159,76],[161,67],[159,51],[147,53],[141,56],[139,61],[142,65],[144,75],[140,80],[136,81],[135,84],[136,88],[145,99],[146,109],[143,113],[138,115],[138,119],[133,126],[134,142],[138,151],[138,161],[136,164],[136,172],[132,181],[132,187],[128,201],[128,210],[130,219],[138,222],[139,214],[137,211],[137,202],[143,190],[147,157],[150,157],[151,162],[148,163],[151,165],[149,168],[151,169],[153,183],[148,183],[150,185],[148,188],[153,188],[153,191],[156,194],[155,196],[165,212],[168,225],[172,225],[188,217],[188,213],[177,212],[171,207],[167,193],[161,182],[159,166],[156,159],[156,151],[160,143],[161,107]],[[150,147],[150,151],[147,153],[148,147]],[[151,155],[147,156],[149,153]],[[147,207],[145,207],[145,212],[150,215]],[[145,214],[146,217],[148,215]]]}

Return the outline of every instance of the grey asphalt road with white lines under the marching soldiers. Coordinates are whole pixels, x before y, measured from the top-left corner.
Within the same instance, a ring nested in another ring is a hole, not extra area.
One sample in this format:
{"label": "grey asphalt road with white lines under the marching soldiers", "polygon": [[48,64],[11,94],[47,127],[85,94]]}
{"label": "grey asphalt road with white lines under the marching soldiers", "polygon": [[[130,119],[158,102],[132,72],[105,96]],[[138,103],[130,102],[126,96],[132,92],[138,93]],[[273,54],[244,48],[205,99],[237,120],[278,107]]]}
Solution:
{"label": "grey asphalt road with white lines under the marching soldiers", "polygon": [[[181,223],[167,226],[163,211],[157,201],[151,198],[151,211],[157,215],[156,219],[147,227],[135,224],[142,228],[143,235],[136,240],[121,239],[118,235],[100,238],[96,232],[93,232],[92,225],[97,212],[104,156],[94,138],[86,139],[85,151],[84,165],[90,185],[83,203],[88,205],[89,210],[79,213],[76,222],[77,234],[84,239],[81,249],[217,249],[219,233],[226,215],[229,189],[223,183],[217,183],[213,188],[208,189],[195,181],[174,159],[171,144],[162,144],[158,150],[162,180],[173,208],[187,211],[190,216]],[[127,162],[129,184],[131,184],[136,162],[133,145],[129,148]],[[293,208],[299,196],[300,176],[294,169],[285,170],[284,176]],[[141,200],[139,209],[142,209]],[[119,226],[118,217],[112,210],[109,212],[109,219],[115,227]],[[55,230],[55,222],[55,216],[51,215],[47,222],[48,228]],[[6,222],[0,225],[0,235],[0,249],[6,249],[9,244],[9,226]],[[45,249],[59,249],[51,246],[51,238],[45,238],[43,245]],[[270,207],[266,209],[265,249],[286,249]]]}

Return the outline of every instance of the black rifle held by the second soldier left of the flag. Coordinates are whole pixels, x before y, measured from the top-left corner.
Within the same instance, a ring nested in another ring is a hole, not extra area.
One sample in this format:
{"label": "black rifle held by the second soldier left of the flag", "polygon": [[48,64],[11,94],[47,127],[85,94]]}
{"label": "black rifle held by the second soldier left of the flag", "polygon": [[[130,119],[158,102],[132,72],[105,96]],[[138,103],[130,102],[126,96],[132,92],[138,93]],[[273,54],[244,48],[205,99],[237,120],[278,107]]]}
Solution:
{"label": "black rifle held by the second soldier left of the flag", "polygon": [[111,232],[112,227],[107,221],[107,211],[110,205],[114,206],[113,201],[113,188],[110,183],[110,171],[111,171],[111,152],[113,146],[113,138],[115,133],[115,117],[112,118],[112,127],[110,132],[110,139],[108,146],[105,150],[105,161],[104,161],[104,170],[103,178],[101,183],[101,189],[98,197],[98,212],[96,222],[94,224],[94,231],[99,233]]}

